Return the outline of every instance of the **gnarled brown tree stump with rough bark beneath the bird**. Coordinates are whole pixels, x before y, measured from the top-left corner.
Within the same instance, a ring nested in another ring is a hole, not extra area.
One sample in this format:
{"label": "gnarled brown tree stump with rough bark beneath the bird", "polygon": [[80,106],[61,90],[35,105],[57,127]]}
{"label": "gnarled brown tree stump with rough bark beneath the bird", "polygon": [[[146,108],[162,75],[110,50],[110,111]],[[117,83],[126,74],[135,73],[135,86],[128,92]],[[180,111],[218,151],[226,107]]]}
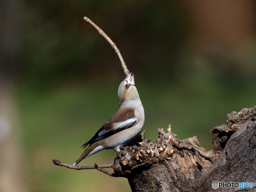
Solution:
{"label": "gnarled brown tree stump with rough bark beneath the bird", "polygon": [[[226,125],[210,131],[210,151],[199,146],[196,136],[179,141],[170,129],[158,129],[156,142],[142,134],[137,145],[130,143],[117,153],[114,174],[127,178],[132,191],[254,191],[256,106],[232,112],[227,119]],[[215,180],[252,182],[254,187],[214,189]]]}

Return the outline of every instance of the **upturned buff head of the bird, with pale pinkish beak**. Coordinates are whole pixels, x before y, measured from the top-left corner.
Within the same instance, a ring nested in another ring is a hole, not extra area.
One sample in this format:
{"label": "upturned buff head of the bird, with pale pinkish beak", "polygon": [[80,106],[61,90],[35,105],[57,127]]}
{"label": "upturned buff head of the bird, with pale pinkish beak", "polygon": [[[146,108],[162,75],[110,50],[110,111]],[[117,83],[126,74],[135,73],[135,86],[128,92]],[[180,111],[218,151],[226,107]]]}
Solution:
{"label": "upturned buff head of the bird, with pale pinkish beak", "polygon": [[123,103],[140,100],[139,94],[135,87],[134,75],[129,73],[126,78],[121,82],[118,89],[118,101],[121,106]]}

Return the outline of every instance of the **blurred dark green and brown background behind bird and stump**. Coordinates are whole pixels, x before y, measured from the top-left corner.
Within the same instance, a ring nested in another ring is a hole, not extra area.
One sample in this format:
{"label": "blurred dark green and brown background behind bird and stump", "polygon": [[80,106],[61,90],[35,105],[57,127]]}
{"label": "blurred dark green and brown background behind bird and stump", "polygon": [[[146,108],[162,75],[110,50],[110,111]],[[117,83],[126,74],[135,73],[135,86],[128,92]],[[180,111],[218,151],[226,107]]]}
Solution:
{"label": "blurred dark green and brown background behind bird and stump", "polygon": [[0,191],[131,191],[125,178],[52,163],[73,164],[119,108],[120,61],[84,16],[134,72],[146,138],[172,124],[210,150],[214,126],[256,105],[252,0],[0,0]]}

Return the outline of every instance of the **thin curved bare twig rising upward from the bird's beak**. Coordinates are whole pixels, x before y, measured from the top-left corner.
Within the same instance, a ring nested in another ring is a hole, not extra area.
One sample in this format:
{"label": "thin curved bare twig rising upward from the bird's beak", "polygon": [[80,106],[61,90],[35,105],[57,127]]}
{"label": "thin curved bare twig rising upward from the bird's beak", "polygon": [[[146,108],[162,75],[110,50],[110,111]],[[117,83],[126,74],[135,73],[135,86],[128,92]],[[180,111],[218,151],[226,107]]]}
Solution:
{"label": "thin curved bare twig rising upward from the bird's beak", "polygon": [[130,72],[129,72],[129,70],[128,70],[127,67],[126,67],[126,64],[125,64],[125,62],[124,62],[124,59],[123,59],[123,57],[122,57],[122,55],[121,55],[121,53],[120,53],[120,50],[117,48],[116,44],[109,38],[109,36],[107,36],[107,35],[104,33],[104,31],[103,31],[101,28],[99,28],[95,23],[93,23],[93,22],[91,21],[91,19],[89,19],[88,17],[84,17],[83,19],[86,20],[87,23],[90,23],[95,29],[97,29],[97,31],[99,32],[99,34],[101,34],[101,35],[109,42],[109,44],[111,45],[111,47],[115,50],[116,54],[118,55],[119,60],[120,60],[120,62],[121,62],[121,64],[122,64],[122,68],[123,68],[123,70],[124,70],[124,74],[125,74],[125,76],[127,76]]}

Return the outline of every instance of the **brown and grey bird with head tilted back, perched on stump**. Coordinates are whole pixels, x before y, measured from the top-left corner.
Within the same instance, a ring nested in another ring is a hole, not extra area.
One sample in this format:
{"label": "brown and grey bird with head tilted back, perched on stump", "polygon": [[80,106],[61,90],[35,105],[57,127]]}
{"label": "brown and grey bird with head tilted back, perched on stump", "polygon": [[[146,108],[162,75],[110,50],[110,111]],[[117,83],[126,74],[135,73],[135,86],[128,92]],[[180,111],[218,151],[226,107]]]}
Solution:
{"label": "brown and grey bird with head tilted back, perched on stump", "polygon": [[[135,87],[134,74],[129,73],[118,88],[119,110],[83,146],[89,145],[73,164],[104,149],[120,151],[120,147],[137,137],[144,125],[144,108]],[[82,147],[83,147],[82,146]]]}

